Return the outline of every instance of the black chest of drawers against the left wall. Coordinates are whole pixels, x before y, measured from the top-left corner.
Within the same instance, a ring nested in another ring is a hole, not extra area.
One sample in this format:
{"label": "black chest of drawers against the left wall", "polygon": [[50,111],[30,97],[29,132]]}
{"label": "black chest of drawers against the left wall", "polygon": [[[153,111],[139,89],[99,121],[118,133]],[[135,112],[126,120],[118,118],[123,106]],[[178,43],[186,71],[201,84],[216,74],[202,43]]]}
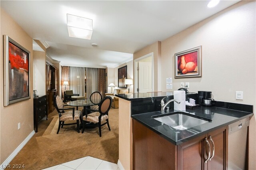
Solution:
{"label": "black chest of drawers against the left wall", "polygon": [[46,95],[34,97],[34,128],[38,131],[38,122],[43,118],[48,119]]}

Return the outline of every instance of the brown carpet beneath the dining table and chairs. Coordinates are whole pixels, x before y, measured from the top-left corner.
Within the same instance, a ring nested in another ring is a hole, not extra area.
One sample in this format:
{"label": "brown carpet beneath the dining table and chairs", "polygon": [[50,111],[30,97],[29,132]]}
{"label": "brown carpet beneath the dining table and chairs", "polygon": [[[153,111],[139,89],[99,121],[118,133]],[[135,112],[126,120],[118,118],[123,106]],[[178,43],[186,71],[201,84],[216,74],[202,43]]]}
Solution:
{"label": "brown carpet beneath the dining table and chairs", "polygon": [[[78,110],[82,110],[78,108]],[[99,129],[89,128],[82,134],[76,131],[76,125],[58,129],[56,109],[48,115],[47,121],[41,121],[38,132],[20,150],[10,164],[24,164],[26,169],[39,170],[57,164],[92,156],[109,162],[118,161],[118,109],[109,111],[109,124]]]}

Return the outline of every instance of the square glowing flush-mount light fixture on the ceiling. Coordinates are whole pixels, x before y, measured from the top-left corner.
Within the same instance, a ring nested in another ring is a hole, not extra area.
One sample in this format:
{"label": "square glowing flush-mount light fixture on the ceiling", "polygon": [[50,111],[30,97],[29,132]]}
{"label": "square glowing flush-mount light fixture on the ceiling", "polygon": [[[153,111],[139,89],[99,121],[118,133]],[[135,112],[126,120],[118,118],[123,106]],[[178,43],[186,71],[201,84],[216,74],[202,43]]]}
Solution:
{"label": "square glowing flush-mount light fixture on the ceiling", "polygon": [[67,14],[68,35],[74,38],[91,40],[92,20],[80,16]]}

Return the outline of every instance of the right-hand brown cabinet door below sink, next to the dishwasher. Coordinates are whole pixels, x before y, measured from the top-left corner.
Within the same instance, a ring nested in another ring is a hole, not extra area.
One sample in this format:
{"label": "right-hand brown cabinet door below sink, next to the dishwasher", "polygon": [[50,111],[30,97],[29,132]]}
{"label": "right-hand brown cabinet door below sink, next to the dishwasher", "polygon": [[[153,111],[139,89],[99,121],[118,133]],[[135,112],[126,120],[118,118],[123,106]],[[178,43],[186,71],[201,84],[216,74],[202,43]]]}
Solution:
{"label": "right-hand brown cabinet door below sink, next to the dishwasher", "polygon": [[212,141],[214,142],[214,156],[207,163],[208,170],[225,170],[227,169],[227,153],[228,153],[228,136],[226,133],[227,128],[223,127],[213,132],[208,133],[208,141],[211,146],[211,157],[213,154],[213,145],[210,140],[210,136]]}

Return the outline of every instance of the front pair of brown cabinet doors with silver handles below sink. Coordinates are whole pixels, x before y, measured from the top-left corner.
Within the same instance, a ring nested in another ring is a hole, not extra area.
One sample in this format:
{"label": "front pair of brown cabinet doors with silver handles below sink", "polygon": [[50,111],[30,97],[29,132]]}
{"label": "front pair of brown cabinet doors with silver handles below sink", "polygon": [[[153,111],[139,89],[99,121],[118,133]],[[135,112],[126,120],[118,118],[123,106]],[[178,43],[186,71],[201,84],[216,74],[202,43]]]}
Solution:
{"label": "front pair of brown cabinet doors with silver handles below sink", "polygon": [[178,145],[179,169],[227,169],[226,130],[222,127]]}

